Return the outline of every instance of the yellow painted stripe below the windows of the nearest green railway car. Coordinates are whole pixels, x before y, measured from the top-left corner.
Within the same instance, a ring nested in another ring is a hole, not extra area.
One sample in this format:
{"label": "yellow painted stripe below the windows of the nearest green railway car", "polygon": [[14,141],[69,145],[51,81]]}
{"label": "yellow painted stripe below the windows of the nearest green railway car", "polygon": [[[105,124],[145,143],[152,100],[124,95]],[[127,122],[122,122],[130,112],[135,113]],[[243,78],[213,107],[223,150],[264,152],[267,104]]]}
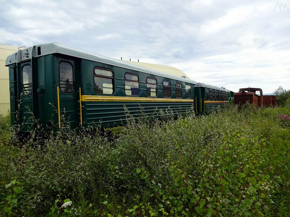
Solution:
{"label": "yellow painted stripe below the windows of the nearest green railway car", "polygon": [[122,102],[192,102],[194,100],[166,99],[166,98],[146,98],[146,97],[121,97],[121,96],[94,96],[81,95],[82,102],[92,101],[122,101]]}

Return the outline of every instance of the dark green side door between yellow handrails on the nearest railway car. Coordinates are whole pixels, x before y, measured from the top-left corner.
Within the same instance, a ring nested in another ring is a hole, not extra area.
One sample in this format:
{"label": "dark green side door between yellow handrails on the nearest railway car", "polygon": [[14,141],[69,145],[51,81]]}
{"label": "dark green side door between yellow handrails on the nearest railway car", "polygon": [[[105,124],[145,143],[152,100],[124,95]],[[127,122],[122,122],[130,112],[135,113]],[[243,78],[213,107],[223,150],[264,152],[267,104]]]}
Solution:
{"label": "dark green side door between yellow handrails on the nearest railway car", "polygon": [[76,128],[80,123],[79,113],[79,85],[77,62],[71,59],[56,57],[57,68],[57,100],[58,100],[58,125],[70,125]]}

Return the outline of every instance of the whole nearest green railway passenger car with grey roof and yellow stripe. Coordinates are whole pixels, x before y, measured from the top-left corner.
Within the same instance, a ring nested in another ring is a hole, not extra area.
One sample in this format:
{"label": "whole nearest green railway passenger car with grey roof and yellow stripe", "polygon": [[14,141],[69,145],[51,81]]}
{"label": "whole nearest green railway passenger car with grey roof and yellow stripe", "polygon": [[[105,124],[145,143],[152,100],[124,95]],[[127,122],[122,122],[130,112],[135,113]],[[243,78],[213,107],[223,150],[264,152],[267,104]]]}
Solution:
{"label": "whole nearest green railway passenger car with grey roof and yellow stripe", "polygon": [[[8,56],[11,123],[30,132],[125,123],[124,106],[138,117],[170,107],[175,115],[194,109],[197,83],[57,43],[24,48]],[[157,108],[157,110],[156,110]],[[34,118],[32,118],[34,117]],[[63,118],[64,117],[64,118]]]}

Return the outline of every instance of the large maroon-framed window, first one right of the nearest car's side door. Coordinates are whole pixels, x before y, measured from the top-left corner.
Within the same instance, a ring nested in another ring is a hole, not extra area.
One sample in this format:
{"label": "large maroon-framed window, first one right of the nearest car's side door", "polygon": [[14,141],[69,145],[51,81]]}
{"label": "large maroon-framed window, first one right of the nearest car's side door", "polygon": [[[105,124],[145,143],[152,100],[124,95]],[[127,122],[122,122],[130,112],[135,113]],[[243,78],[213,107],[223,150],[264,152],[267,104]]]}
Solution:
{"label": "large maroon-framed window, first one right of the nearest car's side door", "polygon": [[94,82],[95,92],[98,94],[113,94],[114,74],[110,69],[95,68]]}

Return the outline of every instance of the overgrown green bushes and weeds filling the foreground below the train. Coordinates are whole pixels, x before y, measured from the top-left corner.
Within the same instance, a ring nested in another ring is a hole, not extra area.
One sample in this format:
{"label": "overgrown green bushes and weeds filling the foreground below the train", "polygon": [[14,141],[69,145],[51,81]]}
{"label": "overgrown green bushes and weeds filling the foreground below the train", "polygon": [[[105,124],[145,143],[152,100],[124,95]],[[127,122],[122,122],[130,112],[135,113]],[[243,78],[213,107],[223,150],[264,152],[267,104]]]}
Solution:
{"label": "overgrown green bushes and weeds filling the foreground below the train", "polygon": [[25,144],[0,116],[0,216],[287,216],[290,125],[281,113],[290,109],[129,117],[112,141],[63,128]]}

